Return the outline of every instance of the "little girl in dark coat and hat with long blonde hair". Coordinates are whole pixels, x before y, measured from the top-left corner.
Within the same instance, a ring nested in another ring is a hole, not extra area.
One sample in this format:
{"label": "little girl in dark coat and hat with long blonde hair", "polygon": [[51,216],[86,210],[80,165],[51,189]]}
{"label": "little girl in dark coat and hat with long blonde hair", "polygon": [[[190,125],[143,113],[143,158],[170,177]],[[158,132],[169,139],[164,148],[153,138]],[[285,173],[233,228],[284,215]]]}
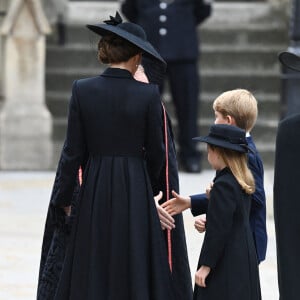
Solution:
{"label": "little girl in dark coat and hat with long blonde hair", "polygon": [[216,176],[209,193],[194,300],[260,300],[257,256],[249,224],[255,181],[247,166],[245,131],[215,124],[207,136],[195,140],[207,143],[208,162]]}

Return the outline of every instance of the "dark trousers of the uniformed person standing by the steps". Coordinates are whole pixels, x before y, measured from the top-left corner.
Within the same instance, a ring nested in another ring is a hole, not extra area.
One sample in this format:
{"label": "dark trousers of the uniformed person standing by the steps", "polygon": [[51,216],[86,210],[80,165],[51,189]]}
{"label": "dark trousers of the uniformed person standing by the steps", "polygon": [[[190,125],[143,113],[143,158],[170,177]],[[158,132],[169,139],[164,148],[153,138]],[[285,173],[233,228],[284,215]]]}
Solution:
{"label": "dark trousers of the uniformed person standing by the steps", "polygon": [[[199,157],[196,143],[198,136],[198,95],[200,81],[197,60],[167,61],[167,79],[178,121],[177,141],[182,160]],[[163,89],[163,87],[161,87]]]}

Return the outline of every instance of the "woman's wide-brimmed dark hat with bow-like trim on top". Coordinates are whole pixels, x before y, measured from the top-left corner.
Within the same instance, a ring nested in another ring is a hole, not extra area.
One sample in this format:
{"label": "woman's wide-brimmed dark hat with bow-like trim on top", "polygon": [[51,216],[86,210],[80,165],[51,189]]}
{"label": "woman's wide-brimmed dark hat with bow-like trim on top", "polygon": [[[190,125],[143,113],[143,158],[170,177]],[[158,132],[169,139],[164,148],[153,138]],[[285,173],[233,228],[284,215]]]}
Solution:
{"label": "woman's wide-brimmed dark hat with bow-like trim on top", "polygon": [[142,50],[145,55],[159,60],[166,65],[164,59],[155,50],[155,48],[147,41],[144,29],[135,23],[123,22],[120,14],[116,12],[116,16],[110,16],[110,20],[103,21],[100,24],[86,25],[93,32],[105,36],[108,34],[116,34],[117,36],[127,40]]}

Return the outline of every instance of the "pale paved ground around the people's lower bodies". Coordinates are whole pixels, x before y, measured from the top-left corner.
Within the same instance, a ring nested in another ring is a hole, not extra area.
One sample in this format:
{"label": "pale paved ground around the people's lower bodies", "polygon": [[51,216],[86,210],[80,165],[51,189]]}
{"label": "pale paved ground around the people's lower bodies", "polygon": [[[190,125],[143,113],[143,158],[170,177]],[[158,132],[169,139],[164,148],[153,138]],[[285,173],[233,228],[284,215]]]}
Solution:
{"label": "pale paved ground around the people's lower bodies", "polygon": [[[201,192],[212,178],[212,171],[198,175],[180,173],[181,193]],[[53,180],[53,172],[0,172],[1,300],[35,299],[42,233]],[[264,300],[278,299],[272,185],[273,172],[266,171],[269,245],[267,259],[260,266]],[[193,277],[203,235],[194,230],[189,211],[184,218]]]}

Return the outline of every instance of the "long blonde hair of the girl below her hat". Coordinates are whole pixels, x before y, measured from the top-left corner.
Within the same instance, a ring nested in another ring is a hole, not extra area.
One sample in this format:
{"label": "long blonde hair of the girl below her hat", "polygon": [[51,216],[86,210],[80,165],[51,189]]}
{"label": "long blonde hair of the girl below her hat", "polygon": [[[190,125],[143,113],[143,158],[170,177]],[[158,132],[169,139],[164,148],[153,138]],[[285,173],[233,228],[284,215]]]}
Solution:
{"label": "long blonde hair of the girl below her hat", "polygon": [[213,145],[209,146],[218,151],[245,193],[253,194],[255,192],[255,181],[247,165],[247,154]]}

